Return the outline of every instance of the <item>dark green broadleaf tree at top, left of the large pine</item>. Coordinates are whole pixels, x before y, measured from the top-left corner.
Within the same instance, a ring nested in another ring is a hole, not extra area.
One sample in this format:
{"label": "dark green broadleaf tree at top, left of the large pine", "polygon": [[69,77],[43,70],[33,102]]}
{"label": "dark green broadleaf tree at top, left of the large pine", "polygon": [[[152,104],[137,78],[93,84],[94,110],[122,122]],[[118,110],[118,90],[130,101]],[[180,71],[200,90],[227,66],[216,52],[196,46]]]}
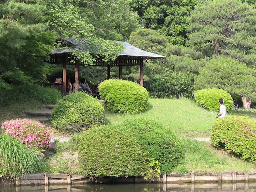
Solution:
{"label": "dark green broadleaf tree at top, left of the large pine", "polygon": [[170,43],[185,44],[187,18],[197,0],[129,0],[140,24],[159,30]]}

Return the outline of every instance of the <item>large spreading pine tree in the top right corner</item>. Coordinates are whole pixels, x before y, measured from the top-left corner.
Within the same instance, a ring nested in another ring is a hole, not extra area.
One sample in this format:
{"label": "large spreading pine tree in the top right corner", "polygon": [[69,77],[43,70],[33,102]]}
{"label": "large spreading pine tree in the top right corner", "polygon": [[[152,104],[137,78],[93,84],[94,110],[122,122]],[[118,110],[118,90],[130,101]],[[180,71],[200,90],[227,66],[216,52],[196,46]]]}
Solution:
{"label": "large spreading pine tree in the top right corner", "polygon": [[240,0],[206,0],[188,22],[189,44],[205,56],[226,55],[246,64],[256,59],[256,10]]}

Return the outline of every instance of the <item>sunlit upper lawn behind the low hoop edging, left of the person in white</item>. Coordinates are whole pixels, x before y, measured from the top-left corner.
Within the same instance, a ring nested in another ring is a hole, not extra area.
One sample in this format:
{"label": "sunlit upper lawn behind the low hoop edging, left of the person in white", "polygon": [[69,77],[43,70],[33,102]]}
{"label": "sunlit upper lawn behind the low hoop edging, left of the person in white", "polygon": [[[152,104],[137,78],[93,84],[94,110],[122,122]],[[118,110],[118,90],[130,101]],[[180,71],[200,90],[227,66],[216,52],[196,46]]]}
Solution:
{"label": "sunlit upper lawn behind the low hoop edging, left of the person in white", "polygon": [[[132,115],[106,112],[106,123],[117,124],[128,119],[147,118],[160,122],[177,134],[185,130],[195,135],[211,129],[216,114],[216,112],[202,109],[189,99],[150,99],[150,105],[144,113]],[[191,135],[180,134],[180,136]],[[204,136],[209,137],[207,134]]]}

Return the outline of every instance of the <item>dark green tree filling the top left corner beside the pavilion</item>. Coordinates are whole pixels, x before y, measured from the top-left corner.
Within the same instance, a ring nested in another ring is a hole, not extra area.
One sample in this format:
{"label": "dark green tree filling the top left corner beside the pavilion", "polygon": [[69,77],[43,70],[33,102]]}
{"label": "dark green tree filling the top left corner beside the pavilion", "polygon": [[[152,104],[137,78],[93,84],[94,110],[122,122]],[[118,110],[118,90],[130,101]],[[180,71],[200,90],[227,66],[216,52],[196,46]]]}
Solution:
{"label": "dark green tree filling the top left corner beside the pavilion", "polygon": [[54,33],[47,32],[45,6],[36,1],[0,2],[0,88],[44,82]]}

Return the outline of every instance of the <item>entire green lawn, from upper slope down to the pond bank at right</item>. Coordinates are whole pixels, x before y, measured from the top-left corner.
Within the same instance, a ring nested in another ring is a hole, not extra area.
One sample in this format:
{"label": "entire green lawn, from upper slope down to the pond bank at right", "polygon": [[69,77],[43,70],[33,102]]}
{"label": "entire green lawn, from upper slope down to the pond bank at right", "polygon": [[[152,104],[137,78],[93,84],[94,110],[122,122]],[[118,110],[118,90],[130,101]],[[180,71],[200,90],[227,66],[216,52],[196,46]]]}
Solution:
{"label": "entire green lawn, from upper slope down to the pond bank at right", "polygon": [[[192,140],[192,135],[198,132],[208,132],[216,120],[217,112],[211,112],[198,106],[188,99],[150,99],[146,112],[140,114],[114,114],[106,111],[106,122],[118,124],[128,119],[147,118],[162,123],[167,129],[175,132],[186,148],[185,159],[174,172],[189,173],[219,173],[222,171],[247,170],[254,172],[253,162],[244,161],[239,157],[228,154],[224,150],[216,150],[210,142]],[[256,120],[254,112],[234,111],[228,115],[248,116]],[[181,130],[182,129],[182,130]],[[189,132],[182,133],[181,132]],[[197,134],[196,137],[210,137],[209,134]]]}

